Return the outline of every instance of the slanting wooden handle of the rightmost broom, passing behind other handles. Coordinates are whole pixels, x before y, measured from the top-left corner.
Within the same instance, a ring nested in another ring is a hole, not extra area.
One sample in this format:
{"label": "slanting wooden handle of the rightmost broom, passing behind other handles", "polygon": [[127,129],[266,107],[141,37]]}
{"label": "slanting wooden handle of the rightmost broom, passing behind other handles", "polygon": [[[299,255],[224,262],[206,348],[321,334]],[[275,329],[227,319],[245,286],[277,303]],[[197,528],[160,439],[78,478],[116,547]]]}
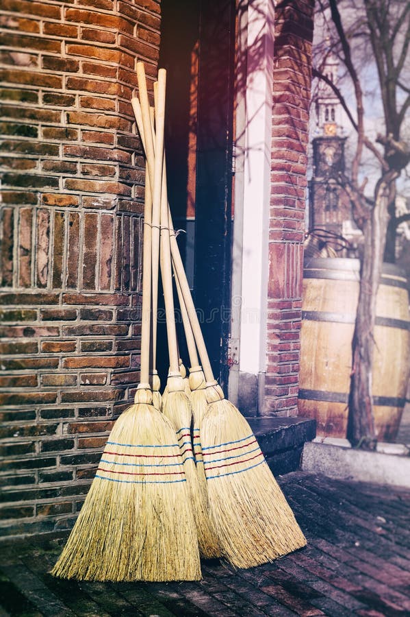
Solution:
{"label": "slanting wooden handle of the rightmost broom, passing behind other handles", "polygon": [[[137,64],[137,69],[138,69],[138,64]],[[140,96],[141,96],[141,90],[140,90]],[[142,141],[143,143],[145,141],[147,144],[146,149],[144,148],[145,153],[146,153],[146,158],[152,157],[151,161],[149,160],[149,169],[150,169],[150,167],[153,166],[153,149],[150,153],[149,147],[148,147],[149,138],[146,138],[145,131],[146,131],[146,126],[151,131],[151,126],[149,125],[149,123],[143,122],[144,114],[142,114],[142,117],[141,117],[141,114],[138,113],[138,108],[139,108],[138,99],[133,98],[131,102],[133,104],[133,110],[134,112],[136,112],[136,121],[137,121],[138,129],[140,130]],[[142,100],[141,100],[140,109],[141,111],[143,109]],[[151,136],[151,142],[152,142],[152,136]],[[188,317],[190,319],[192,332],[194,334],[196,346],[198,348],[199,357],[201,358],[201,364],[203,367],[203,372],[205,374],[205,380],[214,381],[214,374],[212,372],[211,363],[209,362],[209,356],[207,353],[207,348],[205,346],[205,341],[203,339],[203,334],[201,332],[201,326],[199,324],[198,315],[196,315],[196,310],[195,310],[194,302],[192,300],[190,286],[188,285],[188,280],[186,278],[185,269],[183,268],[181,254],[179,253],[179,247],[178,247],[177,239],[175,237],[175,232],[173,230],[172,217],[170,215],[169,208],[168,208],[168,221],[169,221],[169,228],[170,228],[170,249],[171,249],[171,254],[172,254],[172,263],[174,265],[175,274],[178,278],[179,285],[181,287],[183,301],[185,304],[185,308],[188,312]]]}

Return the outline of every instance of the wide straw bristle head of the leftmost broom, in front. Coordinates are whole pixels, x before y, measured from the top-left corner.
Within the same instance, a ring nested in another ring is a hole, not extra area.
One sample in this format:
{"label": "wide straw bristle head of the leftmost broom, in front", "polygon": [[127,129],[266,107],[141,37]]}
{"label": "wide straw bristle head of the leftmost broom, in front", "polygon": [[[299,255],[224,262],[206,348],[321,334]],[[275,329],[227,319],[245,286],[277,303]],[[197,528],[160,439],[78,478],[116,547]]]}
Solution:
{"label": "wide straw bristle head of the leftmost broom, in front", "polygon": [[170,422],[151,404],[129,407],[114,424],[51,574],[89,581],[201,579],[187,484]]}

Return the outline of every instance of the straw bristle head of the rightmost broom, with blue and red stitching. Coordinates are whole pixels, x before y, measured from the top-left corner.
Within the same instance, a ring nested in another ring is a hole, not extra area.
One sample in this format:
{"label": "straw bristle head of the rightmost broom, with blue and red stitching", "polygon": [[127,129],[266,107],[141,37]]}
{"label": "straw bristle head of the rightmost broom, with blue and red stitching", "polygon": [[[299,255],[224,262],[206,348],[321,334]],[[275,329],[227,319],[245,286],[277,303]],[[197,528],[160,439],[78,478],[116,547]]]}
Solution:
{"label": "straw bristle head of the rightmost broom, with blue and red stitching", "polygon": [[206,393],[201,445],[222,555],[237,568],[250,568],[305,546],[248,422],[218,385]]}

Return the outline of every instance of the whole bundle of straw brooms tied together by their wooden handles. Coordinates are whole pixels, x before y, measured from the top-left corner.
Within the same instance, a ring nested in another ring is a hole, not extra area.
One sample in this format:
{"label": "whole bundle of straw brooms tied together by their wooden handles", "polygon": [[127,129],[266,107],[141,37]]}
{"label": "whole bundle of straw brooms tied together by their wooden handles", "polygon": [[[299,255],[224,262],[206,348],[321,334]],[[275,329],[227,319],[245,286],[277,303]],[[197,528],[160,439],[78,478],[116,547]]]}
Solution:
{"label": "whole bundle of straw brooms tied together by their wooden handles", "polygon": [[[159,69],[155,114],[142,62],[137,75],[140,98],[131,102],[146,155],[140,385],[114,424],[51,573],[98,581],[198,580],[200,553],[249,568],[306,540],[251,427],[214,379],[168,207],[166,72]],[[162,403],[155,371],[159,264],[170,362]],[[172,271],[189,380],[180,371]]]}

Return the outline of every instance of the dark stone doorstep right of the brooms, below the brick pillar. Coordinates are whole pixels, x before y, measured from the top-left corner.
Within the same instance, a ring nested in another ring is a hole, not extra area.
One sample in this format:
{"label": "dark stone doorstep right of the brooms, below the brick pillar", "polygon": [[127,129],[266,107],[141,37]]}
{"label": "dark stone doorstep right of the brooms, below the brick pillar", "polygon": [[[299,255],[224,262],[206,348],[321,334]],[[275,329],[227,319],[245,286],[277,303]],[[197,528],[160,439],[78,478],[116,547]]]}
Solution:
{"label": "dark stone doorstep right of the brooms, below the brick pillar", "polygon": [[316,420],[246,418],[275,476],[300,469],[303,446],[316,437]]}

